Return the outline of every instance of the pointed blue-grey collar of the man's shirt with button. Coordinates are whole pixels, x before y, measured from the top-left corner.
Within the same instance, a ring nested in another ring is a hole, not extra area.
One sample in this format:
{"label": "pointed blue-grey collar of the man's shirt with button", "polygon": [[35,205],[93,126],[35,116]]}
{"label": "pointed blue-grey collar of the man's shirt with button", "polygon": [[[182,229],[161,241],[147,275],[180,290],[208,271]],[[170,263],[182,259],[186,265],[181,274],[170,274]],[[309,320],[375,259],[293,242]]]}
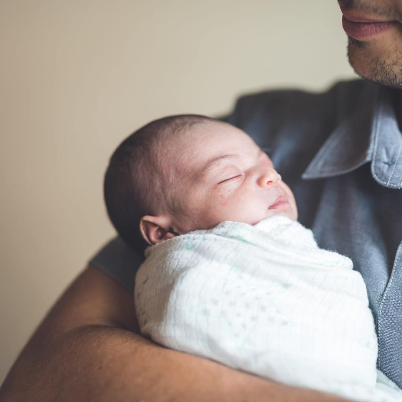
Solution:
{"label": "pointed blue-grey collar of the man's shirt with button", "polygon": [[374,86],[373,96],[359,102],[364,107],[340,119],[301,177],[339,176],[371,161],[371,174],[377,183],[401,189],[402,134],[391,91]]}

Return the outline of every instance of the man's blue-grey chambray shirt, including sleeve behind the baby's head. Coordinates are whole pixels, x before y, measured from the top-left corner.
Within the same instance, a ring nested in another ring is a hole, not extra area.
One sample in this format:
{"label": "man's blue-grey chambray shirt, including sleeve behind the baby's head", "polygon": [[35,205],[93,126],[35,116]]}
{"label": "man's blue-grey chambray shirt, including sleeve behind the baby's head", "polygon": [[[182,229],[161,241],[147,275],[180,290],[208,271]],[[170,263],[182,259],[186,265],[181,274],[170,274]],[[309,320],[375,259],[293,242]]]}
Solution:
{"label": "man's blue-grey chambray shirt, including sleeve behind the baby's head", "polygon": [[[349,256],[367,285],[378,368],[402,388],[402,134],[395,89],[339,82],[324,93],[240,98],[226,121],[250,134],[292,189],[318,245]],[[143,257],[116,238],[91,263],[133,292]]]}

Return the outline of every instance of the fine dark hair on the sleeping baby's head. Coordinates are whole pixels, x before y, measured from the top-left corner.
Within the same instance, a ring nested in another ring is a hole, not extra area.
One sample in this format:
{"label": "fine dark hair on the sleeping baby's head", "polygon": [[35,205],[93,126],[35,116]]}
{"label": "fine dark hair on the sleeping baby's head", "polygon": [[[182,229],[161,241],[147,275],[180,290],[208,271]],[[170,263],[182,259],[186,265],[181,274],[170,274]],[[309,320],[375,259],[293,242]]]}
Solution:
{"label": "fine dark hair on the sleeping baby's head", "polygon": [[107,213],[120,237],[141,254],[148,246],[139,231],[144,215],[189,212],[169,191],[175,186],[174,177],[158,156],[166,152],[168,140],[207,121],[216,120],[202,115],[154,120],[127,137],[109,160],[103,187]]}

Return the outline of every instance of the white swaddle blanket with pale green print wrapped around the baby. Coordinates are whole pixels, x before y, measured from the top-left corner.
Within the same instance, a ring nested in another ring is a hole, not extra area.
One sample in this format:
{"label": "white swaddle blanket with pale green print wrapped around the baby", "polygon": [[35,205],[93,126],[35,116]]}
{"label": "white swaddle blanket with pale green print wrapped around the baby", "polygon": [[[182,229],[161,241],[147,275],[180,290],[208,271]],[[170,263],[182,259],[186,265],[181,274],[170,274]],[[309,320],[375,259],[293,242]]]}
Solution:
{"label": "white swaddle blanket with pale green print wrapped around the baby", "polygon": [[135,280],[142,334],[291,386],[402,400],[376,370],[365,283],[311,230],[275,215],[148,247]]}

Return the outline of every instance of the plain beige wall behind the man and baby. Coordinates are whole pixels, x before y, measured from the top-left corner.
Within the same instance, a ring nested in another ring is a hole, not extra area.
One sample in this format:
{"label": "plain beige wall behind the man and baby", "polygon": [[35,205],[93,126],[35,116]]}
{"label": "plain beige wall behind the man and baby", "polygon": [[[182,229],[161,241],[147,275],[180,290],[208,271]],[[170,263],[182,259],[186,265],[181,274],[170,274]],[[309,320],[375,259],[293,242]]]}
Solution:
{"label": "plain beige wall behind the man and baby", "polygon": [[0,383],[114,236],[107,160],[144,123],[354,74],[336,0],[0,0]]}

